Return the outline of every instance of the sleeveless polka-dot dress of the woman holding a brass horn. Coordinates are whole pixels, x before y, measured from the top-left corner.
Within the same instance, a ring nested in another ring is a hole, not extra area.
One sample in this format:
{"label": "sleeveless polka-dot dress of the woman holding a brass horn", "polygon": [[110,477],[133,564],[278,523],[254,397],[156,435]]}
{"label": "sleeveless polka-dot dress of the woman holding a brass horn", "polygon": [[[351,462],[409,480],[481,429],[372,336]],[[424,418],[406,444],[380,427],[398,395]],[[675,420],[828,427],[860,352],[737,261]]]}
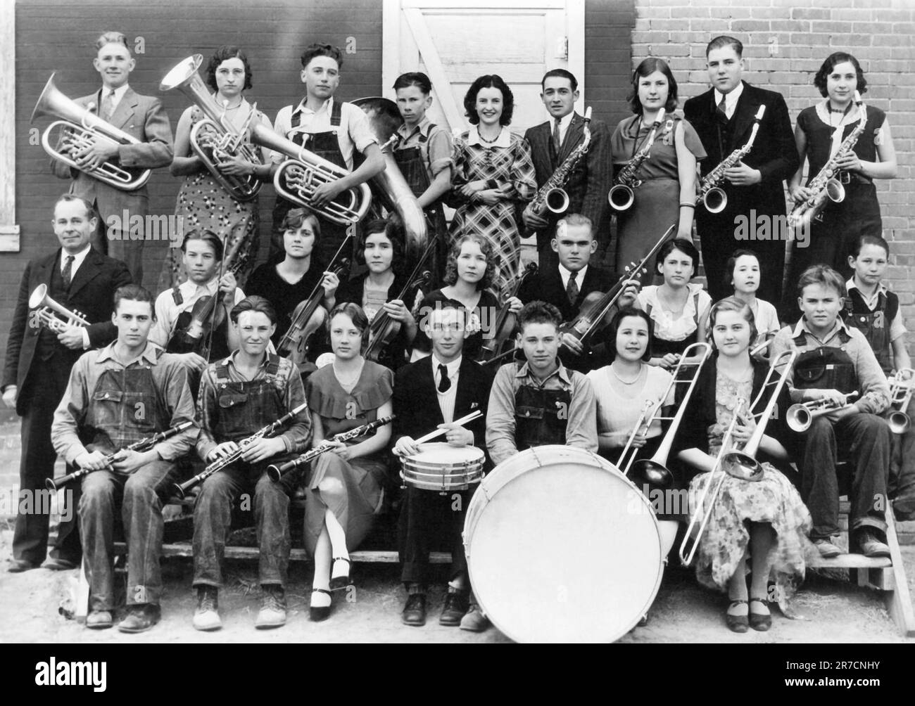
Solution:
{"label": "sleeveless polka-dot dress of the woman holding a brass horn", "polygon": [[[242,105],[237,110],[228,112],[227,115],[231,123],[240,129],[251,110],[251,104],[242,100]],[[192,126],[203,118],[203,112],[196,106],[188,108],[185,115],[181,116],[182,120],[188,114]],[[260,121],[265,127],[271,128],[270,120],[263,112],[258,111],[253,117],[252,123],[257,121]],[[249,147],[251,147],[250,144]],[[257,150],[256,147],[252,147],[252,149]],[[189,151],[188,155],[176,155],[190,156],[193,154],[192,151]],[[260,156],[264,159],[264,155]],[[250,201],[238,201],[232,198],[229,192],[210,174],[210,171],[201,167],[198,172],[184,177],[175,205],[175,215],[180,219],[179,227],[182,233],[204,228],[212,230],[222,237],[225,250],[223,270],[228,270],[240,255],[247,256],[242,269],[235,275],[239,286],[242,287],[254,269],[260,245],[260,216],[257,201],[257,198]],[[158,291],[170,289],[187,279],[188,273],[182,262],[181,250],[178,247],[169,248],[162,265],[162,273],[159,275]]]}

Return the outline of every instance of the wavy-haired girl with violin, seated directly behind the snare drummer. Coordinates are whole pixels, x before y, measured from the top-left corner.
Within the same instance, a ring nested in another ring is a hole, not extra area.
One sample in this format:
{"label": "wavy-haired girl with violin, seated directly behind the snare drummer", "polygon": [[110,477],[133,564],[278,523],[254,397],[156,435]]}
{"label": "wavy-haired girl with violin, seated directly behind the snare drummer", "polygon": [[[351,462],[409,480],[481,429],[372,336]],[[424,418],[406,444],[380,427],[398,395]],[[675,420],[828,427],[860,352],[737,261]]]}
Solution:
{"label": "wavy-haired girl with violin, seated directly behind the snare drummer", "polygon": [[[417,294],[414,305],[414,320],[418,330],[414,339],[414,359],[429,355],[432,345],[425,335],[423,323],[429,312],[449,299],[460,302],[473,316],[468,317],[468,337],[464,341],[464,355],[470,359],[479,357],[484,340],[495,336],[495,323],[501,306],[495,294],[489,290],[496,272],[497,263],[492,244],[482,235],[467,233],[459,236],[448,251],[445,267],[445,286],[429,294]],[[503,306],[512,314],[522,309],[521,300],[511,296]]]}

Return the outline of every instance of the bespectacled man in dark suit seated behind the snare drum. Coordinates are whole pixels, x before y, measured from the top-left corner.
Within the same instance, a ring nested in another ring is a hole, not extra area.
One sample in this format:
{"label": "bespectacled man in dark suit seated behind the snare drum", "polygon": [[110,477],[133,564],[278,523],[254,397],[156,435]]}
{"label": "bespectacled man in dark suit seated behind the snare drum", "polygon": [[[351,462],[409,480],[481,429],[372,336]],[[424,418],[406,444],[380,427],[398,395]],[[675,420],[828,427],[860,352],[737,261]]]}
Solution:
{"label": "bespectacled man in dark suit seated behind the snare drum", "polygon": [[[461,355],[466,316],[464,307],[454,300],[436,307],[426,323],[432,355],[397,371],[393,398],[394,454],[415,454],[414,439],[436,427],[447,430],[445,440],[452,446],[474,445],[485,449],[491,379],[486,369]],[[483,416],[467,427],[453,423],[476,410]],[[433,542],[442,538],[451,546],[451,580],[438,622],[443,626],[464,627],[461,620],[468,611],[469,585],[461,531],[474,487],[444,496],[435,490],[406,488],[398,529],[398,549],[404,565],[401,580],[408,594],[401,616],[404,625],[425,625],[429,551]]]}

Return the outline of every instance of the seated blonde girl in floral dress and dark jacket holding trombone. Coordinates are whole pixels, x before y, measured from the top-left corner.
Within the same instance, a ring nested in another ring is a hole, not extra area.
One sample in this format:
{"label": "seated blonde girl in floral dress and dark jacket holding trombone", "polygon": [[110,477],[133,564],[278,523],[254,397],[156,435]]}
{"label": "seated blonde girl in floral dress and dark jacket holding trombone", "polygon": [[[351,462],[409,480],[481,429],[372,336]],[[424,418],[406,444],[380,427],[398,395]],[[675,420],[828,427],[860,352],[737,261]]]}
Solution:
{"label": "seated blonde girl in floral dress and dark jacket holding trombone", "polygon": [[[727,297],[712,307],[709,341],[715,354],[699,373],[687,402],[683,424],[677,432],[675,453],[680,461],[698,468],[700,475],[690,484],[691,505],[702,496],[713,477],[710,471],[724,441],[725,430],[734,421],[731,441],[740,449],[756,429],[750,413],[765,409],[775,389],[776,369],[762,399],[752,411],[770,367],[749,356],[750,341],[757,337],[753,312],[746,302]],[[745,403],[741,403],[745,401]],[[760,455],[786,460],[782,441],[790,439],[784,421],[791,401],[782,387],[778,406],[766,425],[759,444]],[[810,512],[791,481],[770,463],[763,464],[758,481],[725,476],[711,518],[699,540],[695,572],[699,583],[727,591],[731,603],[725,617],[735,632],[768,630],[771,626],[770,593],[767,583],[774,573],[774,597],[784,610],[785,601],[804,576],[804,555],[813,546],[807,535],[812,527]],[[720,480],[719,474],[714,480]],[[709,496],[711,497],[711,496]],[[692,498],[696,498],[692,501]],[[693,512],[706,508],[691,508]],[[747,582],[747,564],[752,575]]]}

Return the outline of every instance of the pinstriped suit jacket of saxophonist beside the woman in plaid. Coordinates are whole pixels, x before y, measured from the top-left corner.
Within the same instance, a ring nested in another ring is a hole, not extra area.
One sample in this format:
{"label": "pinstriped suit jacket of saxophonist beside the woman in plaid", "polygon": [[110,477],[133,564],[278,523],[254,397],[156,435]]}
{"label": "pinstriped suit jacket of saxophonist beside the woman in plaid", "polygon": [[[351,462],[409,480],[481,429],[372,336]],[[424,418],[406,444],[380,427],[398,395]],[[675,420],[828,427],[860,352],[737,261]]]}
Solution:
{"label": "pinstriped suit jacket of saxophonist beside the woman in plaid", "polygon": [[[533,168],[537,175],[537,187],[542,187],[553,176],[554,171],[565,158],[584,140],[585,119],[577,112],[572,115],[572,123],[565,132],[565,141],[559,156],[553,157],[553,121],[541,123],[529,128],[524,139],[531,145]],[[591,143],[585,155],[565,184],[569,195],[567,213],[581,213],[591,219],[595,235],[608,233],[607,193],[613,179],[613,166],[610,164],[610,134],[607,124],[591,120]],[[550,216],[547,212],[547,216]],[[556,218],[550,219],[550,229],[537,234],[537,245],[541,247],[553,239]]]}

